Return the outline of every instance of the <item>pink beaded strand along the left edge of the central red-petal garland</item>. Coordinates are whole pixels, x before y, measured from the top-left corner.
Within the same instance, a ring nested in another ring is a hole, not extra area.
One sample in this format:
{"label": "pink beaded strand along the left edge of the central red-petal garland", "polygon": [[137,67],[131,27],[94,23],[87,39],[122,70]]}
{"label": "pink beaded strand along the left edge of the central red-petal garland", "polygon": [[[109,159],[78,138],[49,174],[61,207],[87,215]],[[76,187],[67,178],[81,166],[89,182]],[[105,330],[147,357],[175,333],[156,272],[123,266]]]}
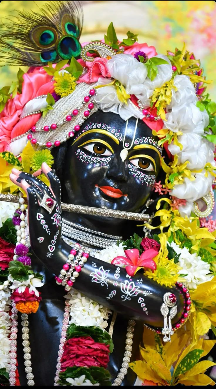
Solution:
{"label": "pink beaded strand along the left edge of the central red-petal garland", "polygon": [[61,357],[63,356],[63,347],[64,343],[66,342],[66,333],[67,333],[67,328],[69,324],[69,319],[70,319],[70,302],[67,299],[67,297],[70,298],[70,294],[67,294],[66,300],[65,300],[65,307],[64,307],[64,319],[62,321],[62,328],[61,328],[61,338],[59,342],[59,351],[58,351],[58,357],[57,357],[57,365],[56,365],[56,376],[54,378],[54,386],[59,386],[57,383],[59,381],[59,373],[61,372]]}

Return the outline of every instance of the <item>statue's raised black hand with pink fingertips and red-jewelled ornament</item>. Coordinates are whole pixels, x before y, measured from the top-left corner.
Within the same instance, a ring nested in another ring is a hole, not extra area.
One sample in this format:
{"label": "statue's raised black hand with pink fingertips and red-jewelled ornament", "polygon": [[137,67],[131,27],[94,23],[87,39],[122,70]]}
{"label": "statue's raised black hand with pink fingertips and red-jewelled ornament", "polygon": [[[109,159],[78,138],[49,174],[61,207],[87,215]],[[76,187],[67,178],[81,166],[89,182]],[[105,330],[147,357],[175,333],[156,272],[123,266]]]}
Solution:
{"label": "statue's raised black hand with pink fingertips and red-jewelled ornament", "polygon": [[[41,173],[49,179],[49,187],[37,178]],[[46,163],[34,175],[12,169],[10,179],[27,194],[31,248],[40,260],[46,262],[54,256],[61,240],[60,181]]]}

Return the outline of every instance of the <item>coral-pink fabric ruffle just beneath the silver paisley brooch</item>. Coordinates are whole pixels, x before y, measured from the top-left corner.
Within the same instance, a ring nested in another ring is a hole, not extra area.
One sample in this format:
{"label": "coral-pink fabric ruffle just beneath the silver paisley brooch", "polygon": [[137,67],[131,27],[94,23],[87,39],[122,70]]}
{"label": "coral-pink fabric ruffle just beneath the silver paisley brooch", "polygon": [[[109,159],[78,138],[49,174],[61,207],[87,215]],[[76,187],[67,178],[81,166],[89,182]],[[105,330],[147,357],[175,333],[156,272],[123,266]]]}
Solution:
{"label": "coral-pink fabric ruffle just beneath the silver paisley brooch", "polygon": [[[108,67],[106,66],[107,61],[106,58],[96,57],[93,62],[85,62],[85,67],[87,67],[88,71],[79,78],[78,83],[86,82],[87,84],[90,84],[91,82],[98,81],[100,77],[111,77]],[[83,66],[83,63],[81,63],[81,65]]]}

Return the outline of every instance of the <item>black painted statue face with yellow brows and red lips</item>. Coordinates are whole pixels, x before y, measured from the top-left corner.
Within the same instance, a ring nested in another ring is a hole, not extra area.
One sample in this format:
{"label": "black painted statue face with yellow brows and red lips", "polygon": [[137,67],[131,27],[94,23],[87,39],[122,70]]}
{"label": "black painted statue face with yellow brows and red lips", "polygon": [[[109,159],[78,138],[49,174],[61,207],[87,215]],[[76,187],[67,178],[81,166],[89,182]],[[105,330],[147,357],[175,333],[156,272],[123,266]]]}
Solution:
{"label": "black painted statue face with yellow brows and red lips", "polygon": [[69,142],[63,201],[142,210],[157,179],[162,152],[143,121],[131,118],[125,122],[117,114],[99,110]]}

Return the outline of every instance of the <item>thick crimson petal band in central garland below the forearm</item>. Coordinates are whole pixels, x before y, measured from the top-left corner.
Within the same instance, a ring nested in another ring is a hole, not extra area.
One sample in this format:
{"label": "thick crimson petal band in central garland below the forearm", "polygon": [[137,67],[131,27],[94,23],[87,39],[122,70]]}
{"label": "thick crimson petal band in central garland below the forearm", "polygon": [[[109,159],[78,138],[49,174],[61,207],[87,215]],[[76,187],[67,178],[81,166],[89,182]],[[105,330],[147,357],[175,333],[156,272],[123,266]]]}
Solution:
{"label": "thick crimson petal band in central garland below the forearm", "polygon": [[97,343],[91,336],[72,338],[64,343],[64,353],[61,358],[61,370],[67,367],[91,367],[106,368],[109,362],[109,345]]}

